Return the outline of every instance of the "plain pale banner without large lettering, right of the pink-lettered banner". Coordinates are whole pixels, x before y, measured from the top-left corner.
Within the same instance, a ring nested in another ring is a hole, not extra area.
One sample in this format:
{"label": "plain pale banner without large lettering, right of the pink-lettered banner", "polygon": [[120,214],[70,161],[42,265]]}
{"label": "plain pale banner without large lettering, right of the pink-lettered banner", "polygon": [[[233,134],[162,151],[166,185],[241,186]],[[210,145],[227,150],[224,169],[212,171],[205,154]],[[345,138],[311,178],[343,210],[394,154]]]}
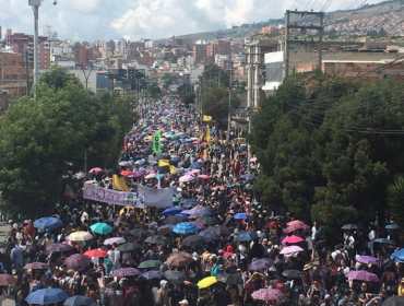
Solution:
{"label": "plain pale banner without large lettering, right of the pink-lettered banner", "polygon": [[173,207],[173,197],[175,187],[154,189],[145,186],[138,186],[139,195],[144,197],[146,207],[170,208]]}

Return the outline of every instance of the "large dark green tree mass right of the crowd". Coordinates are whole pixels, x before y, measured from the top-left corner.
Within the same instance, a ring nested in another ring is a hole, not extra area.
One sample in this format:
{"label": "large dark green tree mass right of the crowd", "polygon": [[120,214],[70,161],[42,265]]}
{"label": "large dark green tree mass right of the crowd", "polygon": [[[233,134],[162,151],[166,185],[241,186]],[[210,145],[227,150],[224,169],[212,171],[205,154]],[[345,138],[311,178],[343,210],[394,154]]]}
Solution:
{"label": "large dark green tree mass right of the crowd", "polygon": [[265,204],[326,231],[384,221],[387,184],[404,172],[400,84],[296,74],[261,101],[249,141]]}

